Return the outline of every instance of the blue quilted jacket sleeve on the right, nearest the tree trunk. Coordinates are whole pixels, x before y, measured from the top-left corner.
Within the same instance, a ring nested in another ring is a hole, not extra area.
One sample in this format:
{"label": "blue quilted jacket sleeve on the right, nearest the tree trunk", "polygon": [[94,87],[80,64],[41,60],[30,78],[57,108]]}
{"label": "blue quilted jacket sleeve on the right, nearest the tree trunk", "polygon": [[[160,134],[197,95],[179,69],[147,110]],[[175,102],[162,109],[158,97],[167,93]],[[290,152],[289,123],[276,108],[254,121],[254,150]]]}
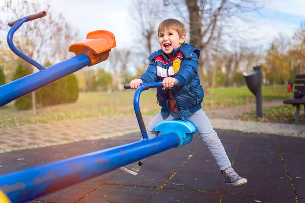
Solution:
{"label": "blue quilted jacket sleeve on the right, nearest the tree trunk", "polygon": [[198,55],[194,52],[185,55],[178,73],[174,76],[179,81],[179,86],[184,86],[193,80],[198,74]]}

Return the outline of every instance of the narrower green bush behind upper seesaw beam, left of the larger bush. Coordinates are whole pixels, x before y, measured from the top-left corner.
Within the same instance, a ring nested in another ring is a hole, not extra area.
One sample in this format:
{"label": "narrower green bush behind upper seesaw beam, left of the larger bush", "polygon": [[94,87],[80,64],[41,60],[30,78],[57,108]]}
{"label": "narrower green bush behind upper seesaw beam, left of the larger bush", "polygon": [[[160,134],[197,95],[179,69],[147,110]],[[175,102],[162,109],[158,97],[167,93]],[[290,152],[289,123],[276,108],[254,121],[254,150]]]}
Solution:
{"label": "narrower green bush behind upper seesaw beam, left of the larger bush", "polygon": [[[17,80],[17,79],[27,76],[29,74],[31,74],[31,71],[28,69],[28,67],[25,64],[18,62],[17,69],[14,73],[13,80]],[[31,109],[31,104],[32,104],[31,93],[26,94],[15,100],[15,106],[18,110]]]}

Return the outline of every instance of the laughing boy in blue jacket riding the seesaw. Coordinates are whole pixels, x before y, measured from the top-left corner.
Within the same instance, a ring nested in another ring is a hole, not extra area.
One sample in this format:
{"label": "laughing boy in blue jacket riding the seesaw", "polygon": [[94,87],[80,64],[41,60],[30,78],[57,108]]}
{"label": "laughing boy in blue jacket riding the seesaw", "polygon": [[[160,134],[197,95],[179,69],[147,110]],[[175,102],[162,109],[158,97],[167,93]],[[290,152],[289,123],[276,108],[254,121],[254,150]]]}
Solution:
{"label": "laughing boy in blue jacket riding the seesaw", "polygon": [[[204,93],[197,73],[200,50],[185,43],[185,26],[175,19],[166,19],[160,23],[158,37],[161,49],[149,57],[147,71],[139,79],[130,82],[133,89],[139,88],[143,82],[163,84],[163,88],[157,88],[161,111],[146,129],[149,139],[158,135],[155,127],[162,121],[189,120],[195,125],[201,139],[214,156],[225,177],[226,185],[239,186],[247,183],[247,179],[238,176],[231,167],[222,143],[202,110]],[[177,80],[179,86],[172,88]],[[137,175],[142,161],[121,167],[121,170]]]}

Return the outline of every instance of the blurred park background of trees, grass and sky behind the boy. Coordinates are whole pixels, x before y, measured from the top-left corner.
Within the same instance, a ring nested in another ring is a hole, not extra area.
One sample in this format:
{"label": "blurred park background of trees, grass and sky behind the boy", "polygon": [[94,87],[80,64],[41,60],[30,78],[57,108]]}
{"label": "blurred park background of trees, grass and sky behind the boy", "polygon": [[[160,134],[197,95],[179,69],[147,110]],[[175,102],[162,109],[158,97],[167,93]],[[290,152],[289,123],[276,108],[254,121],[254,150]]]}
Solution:
{"label": "blurred park background of trees, grass and sky behind the boy", "polygon": [[[9,21],[47,12],[14,35],[18,49],[45,67],[73,57],[68,47],[91,31],[108,30],[117,44],[108,60],[35,91],[34,101],[28,94],[1,107],[0,127],[133,113],[133,91],[123,84],[146,71],[166,18],[183,22],[187,42],[201,49],[205,109],[255,103],[242,75],[255,65],[265,101],[290,97],[285,84],[305,72],[303,0],[0,0],[0,8],[0,85],[37,71],[8,48]],[[152,99],[148,91],[142,113],[159,111]]]}

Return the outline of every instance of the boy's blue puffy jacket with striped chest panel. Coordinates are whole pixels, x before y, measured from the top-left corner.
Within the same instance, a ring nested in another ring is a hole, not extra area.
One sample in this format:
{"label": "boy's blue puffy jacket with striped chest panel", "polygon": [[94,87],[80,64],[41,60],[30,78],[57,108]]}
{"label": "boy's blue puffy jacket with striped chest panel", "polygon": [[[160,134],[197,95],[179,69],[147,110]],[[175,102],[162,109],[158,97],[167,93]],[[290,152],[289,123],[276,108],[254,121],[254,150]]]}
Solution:
{"label": "boy's blue puffy jacket with striped chest panel", "polygon": [[[200,49],[184,43],[173,49],[173,57],[169,60],[162,49],[155,51],[149,57],[150,64],[146,72],[140,77],[144,82],[162,82],[166,77],[173,77],[179,81],[179,87],[170,89],[179,114],[186,120],[193,113],[201,109],[204,92],[198,75],[198,58]],[[179,65],[180,63],[180,65]],[[161,108],[163,119],[169,116],[168,90],[157,88],[157,100]]]}

